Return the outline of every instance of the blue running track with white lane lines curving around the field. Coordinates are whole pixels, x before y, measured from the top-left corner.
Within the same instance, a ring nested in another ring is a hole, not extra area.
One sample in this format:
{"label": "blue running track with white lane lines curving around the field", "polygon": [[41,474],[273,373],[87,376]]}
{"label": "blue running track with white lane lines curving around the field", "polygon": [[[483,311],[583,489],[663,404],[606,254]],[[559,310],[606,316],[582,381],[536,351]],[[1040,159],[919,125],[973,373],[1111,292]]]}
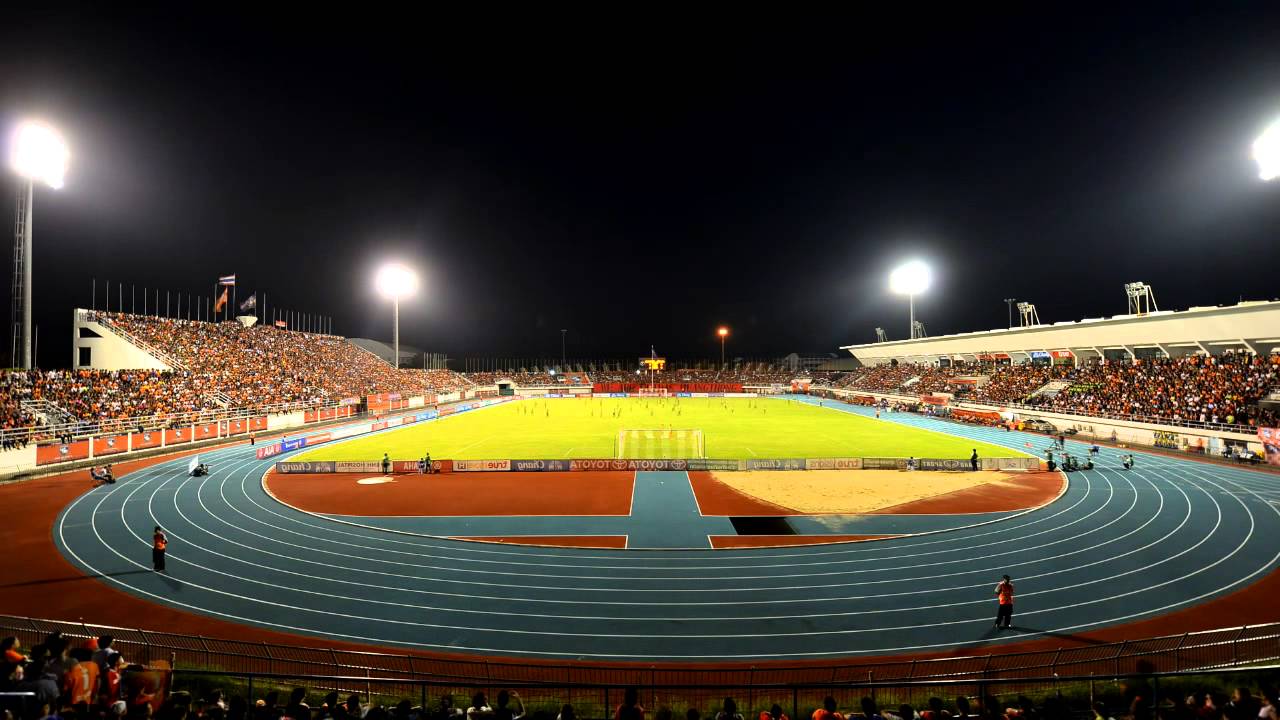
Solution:
{"label": "blue running track with white lane lines curving around the field", "polygon": [[[1019,450],[1029,441],[1037,452],[1048,443],[916,415],[883,421]],[[1083,456],[1087,446],[1068,447]],[[750,551],[493,546],[339,523],[274,501],[261,477],[280,457],[252,451],[202,454],[207,478],[188,478],[182,459],[95,488],[63,511],[54,539],[101,582],[223,620],[428,651],[644,661],[904,655],[1074,634],[1225,596],[1280,561],[1280,477],[1146,454],[1126,473],[1112,450],[1028,514]],[[157,524],[168,575],[150,571]],[[1018,584],[1016,628],[997,634],[992,587],[1004,573]]]}

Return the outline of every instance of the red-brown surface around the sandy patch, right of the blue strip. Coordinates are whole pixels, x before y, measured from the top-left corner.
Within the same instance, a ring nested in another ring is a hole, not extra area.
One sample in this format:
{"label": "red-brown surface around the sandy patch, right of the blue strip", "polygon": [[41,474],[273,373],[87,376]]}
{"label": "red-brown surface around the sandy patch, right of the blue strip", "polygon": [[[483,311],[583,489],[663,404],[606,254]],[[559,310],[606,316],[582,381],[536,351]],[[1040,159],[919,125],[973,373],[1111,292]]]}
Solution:
{"label": "red-brown surface around the sandy patch, right of the blue strip", "polygon": [[[856,473],[858,470],[851,470]],[[744,495],[716,479],[714,473],[689,473],[703,515],[814,515]],[[1062,473],[1019,473],[1006,480],[904,502],[872,515],[951,515],[957,512],[1002,512],[1039,507],[1062,492]]]}

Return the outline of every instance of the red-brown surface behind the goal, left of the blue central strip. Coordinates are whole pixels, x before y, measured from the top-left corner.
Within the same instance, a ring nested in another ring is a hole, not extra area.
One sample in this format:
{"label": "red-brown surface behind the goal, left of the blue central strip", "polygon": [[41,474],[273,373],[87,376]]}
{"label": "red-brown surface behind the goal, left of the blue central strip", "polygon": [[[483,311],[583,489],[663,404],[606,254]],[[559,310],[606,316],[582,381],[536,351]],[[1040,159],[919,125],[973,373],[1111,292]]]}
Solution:
{"label": "red-brown surface behind the goal, left of the blue central strip", "polygon": [[356,483],[369,477],[268,473],[266,489],[285,505],[325,515],[630,515],[635,474],[442,473]]}

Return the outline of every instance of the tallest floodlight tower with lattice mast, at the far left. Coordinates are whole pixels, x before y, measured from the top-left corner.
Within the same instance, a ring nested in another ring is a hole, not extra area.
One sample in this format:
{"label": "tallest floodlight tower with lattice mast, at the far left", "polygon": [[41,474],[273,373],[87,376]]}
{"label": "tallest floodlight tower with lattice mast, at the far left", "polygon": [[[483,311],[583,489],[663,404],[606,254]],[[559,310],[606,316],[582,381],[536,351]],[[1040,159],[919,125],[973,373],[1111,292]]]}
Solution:
{"label": "tallest floodlight tower with lattice mast, at the far left", "polygon": [[[13,342],[9,361],[17,364],[18,338],[22,337],[22,368],[32,368],[31,359],[31,208],[36,183],[58,190],[67,176],[70,152],[67,142],[52,127],[27,120],[14,129],[9,147],[9,164],[24,182],[18,191],[18,217],[13,246]],[[22,306],[19,320],[18,307]],[[19,327],[22,328],[19,331]]]}

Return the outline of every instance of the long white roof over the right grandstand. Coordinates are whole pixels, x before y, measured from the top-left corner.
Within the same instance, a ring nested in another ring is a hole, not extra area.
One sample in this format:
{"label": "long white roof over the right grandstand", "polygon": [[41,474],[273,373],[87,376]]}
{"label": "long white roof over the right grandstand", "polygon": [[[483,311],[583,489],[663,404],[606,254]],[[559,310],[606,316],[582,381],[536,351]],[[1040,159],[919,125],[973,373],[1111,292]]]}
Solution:
{"label": "long white roof over the right grandstand", "polygon": [[952,360],[1011,360],[1033,356],[1101,357],[1106,351],[1137,356],[1138,348],[1157,348],[1171,357],[1224,350],[1267,354],[1280,347],[1280,301],[1164,310],[1140,315],[1091,318],[1051,325],[980,331],[867,345],[846,345],[864,365],[890,360],[937,363]]}

